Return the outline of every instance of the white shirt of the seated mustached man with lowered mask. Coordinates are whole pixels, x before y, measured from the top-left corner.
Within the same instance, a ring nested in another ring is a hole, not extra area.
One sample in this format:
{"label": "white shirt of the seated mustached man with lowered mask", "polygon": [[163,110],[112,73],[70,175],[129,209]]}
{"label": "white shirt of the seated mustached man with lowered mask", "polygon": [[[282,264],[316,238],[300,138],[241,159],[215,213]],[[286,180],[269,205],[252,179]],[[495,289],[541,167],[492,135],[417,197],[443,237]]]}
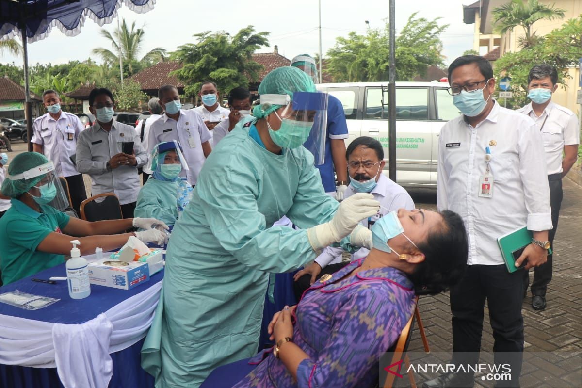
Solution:
{"label": "white shirt of the seated mustached man with lowered mask", "polygon": [[[354,190],[350,184],[347,186],[345,193],[343,193],[343,198],[349,198],[356,193],[357,191]],[[388,210],[386,209],[389,209],[389,211],[398,211],[400,208],[407,210],[414,209],[414,201],[410,197],[410,194],[408,194],[408,192],[402,186],[395,183],[384,174],[380,175],[376,187],[370,191],[370,194],[374,195],[374,200],[380,202],[381,207],[376,215],[361,220],[361,226],[368,227],[368,221],[375,222],[382,216],[386,215],[386,213],[388,213]],[[354,261],[364,258],[368,255],[368,252],[370,252],[370,250],[367,248],[360,248],[351,255],[350,259],[351,261]],[[342,262],[342,253],[342,248],[326,247],[315,259],[315,262],[317,262],[321,268],[324,268],[328,264],[338,264]]]}

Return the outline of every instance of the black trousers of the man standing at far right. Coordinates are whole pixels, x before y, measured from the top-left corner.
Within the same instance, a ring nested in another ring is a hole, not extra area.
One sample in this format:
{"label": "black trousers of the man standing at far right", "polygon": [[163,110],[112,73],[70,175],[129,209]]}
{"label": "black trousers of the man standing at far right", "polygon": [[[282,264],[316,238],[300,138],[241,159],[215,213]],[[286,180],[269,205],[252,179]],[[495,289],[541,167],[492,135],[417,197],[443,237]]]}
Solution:
{"label": "black trousers of the man standing at far right", "polygon": [[[558,220],[560,216],[560,207],[564,192],[562,190],[562,174],[552,174],[548,176],[549,183],[549,202],[552,207],[552,230],[548,232],[548,241],[551,243],[553,251],[553,238],[558,230]],[[548,261],[534,269],[534,281],[531,283],[531,294],[545,297],[546,287],[552,280],[552,258],[553,254],[548,255]],[[528,271],[523,271],[523,290],[527,291],[530,284],[530,275]]]}

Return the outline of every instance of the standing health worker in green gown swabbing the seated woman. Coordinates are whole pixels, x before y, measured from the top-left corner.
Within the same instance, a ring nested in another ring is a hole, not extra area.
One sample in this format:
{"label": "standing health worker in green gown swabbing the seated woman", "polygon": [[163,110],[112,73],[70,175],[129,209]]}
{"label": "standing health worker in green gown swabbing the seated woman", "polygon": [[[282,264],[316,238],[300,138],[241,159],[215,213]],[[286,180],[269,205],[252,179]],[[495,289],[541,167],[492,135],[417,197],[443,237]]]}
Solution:
{"label": "standing health worker in green gown swabbing the seated woman", "polygon": [[[198,387],[217,366],[256,353],[269,273],[300,268],[329,244],[371,245],[357,225],[379,202],[359,193],[338,204],[302,147],[325,120],[327,94],[294,67],[273,70],[258,91],[254,117],[212,151],[174,226],[142,348],[156,387]],[[283,215],[302,229],[272,226]]]}

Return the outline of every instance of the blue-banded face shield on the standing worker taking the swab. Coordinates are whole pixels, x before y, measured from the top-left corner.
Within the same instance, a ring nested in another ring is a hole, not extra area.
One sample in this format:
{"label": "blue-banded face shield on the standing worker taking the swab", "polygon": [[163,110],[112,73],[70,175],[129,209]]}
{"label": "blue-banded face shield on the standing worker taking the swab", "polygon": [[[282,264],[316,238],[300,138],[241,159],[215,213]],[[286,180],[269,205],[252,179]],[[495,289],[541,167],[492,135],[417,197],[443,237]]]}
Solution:
{"label": "blue-banded face shield on the standing worker taking the swab", "polygon": [[293,101],[287,94],[261,95],[261,106],[281,105],[274,114],[281,120],[279,129],[269,127],[269,135],[282,148],[304,145],[320,165],[325,158],[328,95],[321,92],[294,92]]}

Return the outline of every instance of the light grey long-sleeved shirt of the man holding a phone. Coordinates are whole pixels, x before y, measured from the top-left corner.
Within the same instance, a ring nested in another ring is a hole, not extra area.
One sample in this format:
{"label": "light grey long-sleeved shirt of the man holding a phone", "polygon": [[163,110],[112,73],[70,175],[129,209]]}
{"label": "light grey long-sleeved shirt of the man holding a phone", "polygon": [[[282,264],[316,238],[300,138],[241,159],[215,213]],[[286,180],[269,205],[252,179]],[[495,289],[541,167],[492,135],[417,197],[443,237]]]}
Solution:
{"label": "light grey long-sleeved shirt of the man holding a phone", "polygon": [[[133,141],[137,166],[108,169],[107,162],[113,155],[122,152],[124,141]],[[95,121],[93,126],[81,132],[77,140],[77,169],[80,173],[91,176],[91,195],[114,193],[122,205],[137,201],[137,194],[140,191],[137,168],[147,161],[148,155],[134,127],[115,120],[109,132]]]}

